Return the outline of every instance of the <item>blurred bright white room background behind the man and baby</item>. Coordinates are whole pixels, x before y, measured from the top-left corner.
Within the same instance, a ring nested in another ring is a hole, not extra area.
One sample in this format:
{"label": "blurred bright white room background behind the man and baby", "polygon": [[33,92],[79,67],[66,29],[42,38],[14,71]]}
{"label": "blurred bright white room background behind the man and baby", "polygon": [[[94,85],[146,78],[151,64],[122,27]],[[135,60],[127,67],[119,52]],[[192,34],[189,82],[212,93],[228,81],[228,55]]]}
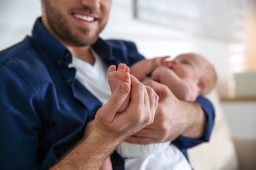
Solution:
{"label": "blurred bright white room background behind the man and baby", "polygon": [[[31,34],[41,5],[1,1],[0,12],[3,50]],[[100,36],[136,42],[146,58],[205,56],[217,70],[216,91],[232,137],[256,140],[255,0],[113,0]]]}

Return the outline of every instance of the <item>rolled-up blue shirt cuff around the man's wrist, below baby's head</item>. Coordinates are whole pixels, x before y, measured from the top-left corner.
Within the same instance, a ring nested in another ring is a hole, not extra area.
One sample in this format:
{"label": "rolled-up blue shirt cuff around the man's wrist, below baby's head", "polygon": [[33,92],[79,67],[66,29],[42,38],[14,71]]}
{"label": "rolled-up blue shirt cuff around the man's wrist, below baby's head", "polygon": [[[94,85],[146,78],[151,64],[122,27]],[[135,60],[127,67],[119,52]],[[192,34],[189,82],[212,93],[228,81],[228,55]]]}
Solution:
{"label": "rolled-up blue shirt cuff around the man's wrist, below baby's head", "polygon": [[209,141],[211,136],[211,131],[213,129],[214,118],[215,118],[215,110],[213,108],[213,105],[205,97],[198,97],[196,99],[196,102],[201,105],[206,115],[207,122],[205,124],[205,131],[203,133],[203,136],[200,139],[190,139],[190,138],[181,136],[175,141],[173,141],[173,144],[175,144],[175,146],[177,146],[181,150],[186,150],[187,148],[191,148],[193,146],[196,146],[197,144],[207,142]]}

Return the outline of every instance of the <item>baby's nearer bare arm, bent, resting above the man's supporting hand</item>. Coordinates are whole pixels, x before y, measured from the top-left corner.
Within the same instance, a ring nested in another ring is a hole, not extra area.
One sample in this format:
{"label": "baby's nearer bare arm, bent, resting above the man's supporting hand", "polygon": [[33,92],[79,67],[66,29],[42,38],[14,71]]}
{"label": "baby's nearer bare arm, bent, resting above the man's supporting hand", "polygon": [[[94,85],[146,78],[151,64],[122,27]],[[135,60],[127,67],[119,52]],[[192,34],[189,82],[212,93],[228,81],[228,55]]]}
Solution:
{"label": "baby's nearer bare arm, bent, resting above the man's supporting hand", "polygon": [[180,78],[166,67],[155,69],[152,73],[152,80],[165,84],[178,99],[184,101],[195,101],[199,93],[199,88],[193,80]]}

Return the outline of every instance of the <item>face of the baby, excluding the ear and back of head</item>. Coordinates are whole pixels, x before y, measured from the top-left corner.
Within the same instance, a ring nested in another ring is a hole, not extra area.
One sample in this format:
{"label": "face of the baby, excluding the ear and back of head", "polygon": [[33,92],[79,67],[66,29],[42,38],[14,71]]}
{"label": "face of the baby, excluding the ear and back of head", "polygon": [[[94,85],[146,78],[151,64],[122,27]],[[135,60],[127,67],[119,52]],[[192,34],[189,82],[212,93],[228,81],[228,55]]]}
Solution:
{"label": "face of the baby, excluding the ear and back of head", "polygon": [[195,54],[182,54],[174,59],[171,69],[181,78],[192,78],[198,82],[205,68],[206,60]]}

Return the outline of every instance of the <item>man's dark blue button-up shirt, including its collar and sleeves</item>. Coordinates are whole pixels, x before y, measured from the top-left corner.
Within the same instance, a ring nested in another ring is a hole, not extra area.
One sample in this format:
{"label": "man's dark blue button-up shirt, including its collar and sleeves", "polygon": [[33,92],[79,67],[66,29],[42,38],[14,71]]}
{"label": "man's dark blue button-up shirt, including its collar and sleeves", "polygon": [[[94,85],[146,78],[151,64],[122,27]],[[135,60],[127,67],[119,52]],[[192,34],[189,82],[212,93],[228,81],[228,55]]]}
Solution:
{"label": "man's dark blue button-up shirt, including its collar and sleeves", "polygon": [[[133,42],[98,39],[92,46],[106,66],[144,59]],[[69,68],[72,56],[37,19],[32,37],[0,52],[0,167],[49,169],[81,137],[85,125],[102,106],[75,79]],[[211,103],[198,97],[207,115],[202,139],[179,137],[173,142],[186,148],[208,141],[213,127]],[[85,158],[86,159],[86,158]],[[123,159],[112,155],[114,169]]]}

